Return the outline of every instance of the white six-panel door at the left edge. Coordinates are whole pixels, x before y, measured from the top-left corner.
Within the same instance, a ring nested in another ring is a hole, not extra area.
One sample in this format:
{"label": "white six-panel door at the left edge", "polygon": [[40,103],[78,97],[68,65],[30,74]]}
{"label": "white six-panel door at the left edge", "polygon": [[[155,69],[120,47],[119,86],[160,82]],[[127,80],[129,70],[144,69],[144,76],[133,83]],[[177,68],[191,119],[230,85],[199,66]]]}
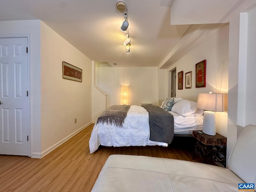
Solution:
{"label": "white six-panel door at the left edge", "polygon": [[28,156],[27,38],[0,38],[0,154]]}

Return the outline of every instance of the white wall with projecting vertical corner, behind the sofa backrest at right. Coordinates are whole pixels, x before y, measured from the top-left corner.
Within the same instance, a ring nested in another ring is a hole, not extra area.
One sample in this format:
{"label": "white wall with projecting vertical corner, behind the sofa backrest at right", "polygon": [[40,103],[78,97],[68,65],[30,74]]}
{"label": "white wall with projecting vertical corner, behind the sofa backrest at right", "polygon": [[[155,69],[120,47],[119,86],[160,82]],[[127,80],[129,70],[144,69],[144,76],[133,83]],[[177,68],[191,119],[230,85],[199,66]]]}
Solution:
{"label": "white wall with projecting vertical corner, behind the sofa backrest at right", "polygon": [[242,128],[256,125],[255,32],[255,5],[230,21],[227,158]]}

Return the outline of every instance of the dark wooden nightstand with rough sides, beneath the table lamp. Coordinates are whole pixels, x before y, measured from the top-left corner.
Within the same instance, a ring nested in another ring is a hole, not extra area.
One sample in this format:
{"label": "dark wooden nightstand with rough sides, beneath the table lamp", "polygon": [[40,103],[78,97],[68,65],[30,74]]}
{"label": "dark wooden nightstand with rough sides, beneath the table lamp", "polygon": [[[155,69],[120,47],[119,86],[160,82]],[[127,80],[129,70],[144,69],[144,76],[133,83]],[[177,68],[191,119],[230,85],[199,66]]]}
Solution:
{"label": "dark wooden nightstand with rough sides, beneath the table lamp", "polygon": [[193,131],[192,136],[196,138],[193,159],[198,155],[205,163],[226,167],[226,137],[218,133],[215,136],[200,134],[197,131]]}

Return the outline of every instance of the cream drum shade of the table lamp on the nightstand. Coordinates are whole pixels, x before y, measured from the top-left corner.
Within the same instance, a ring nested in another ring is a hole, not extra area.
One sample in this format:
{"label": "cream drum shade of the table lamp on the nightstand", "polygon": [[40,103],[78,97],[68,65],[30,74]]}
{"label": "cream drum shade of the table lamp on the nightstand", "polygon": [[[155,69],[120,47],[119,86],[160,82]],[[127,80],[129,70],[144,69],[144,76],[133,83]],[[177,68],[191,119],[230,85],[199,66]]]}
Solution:
{"label": "cream drum shade of the table lamp on the nightstand", "polygon": [[198,94],[197,108],[208,111],[224,112],[224,94]]}

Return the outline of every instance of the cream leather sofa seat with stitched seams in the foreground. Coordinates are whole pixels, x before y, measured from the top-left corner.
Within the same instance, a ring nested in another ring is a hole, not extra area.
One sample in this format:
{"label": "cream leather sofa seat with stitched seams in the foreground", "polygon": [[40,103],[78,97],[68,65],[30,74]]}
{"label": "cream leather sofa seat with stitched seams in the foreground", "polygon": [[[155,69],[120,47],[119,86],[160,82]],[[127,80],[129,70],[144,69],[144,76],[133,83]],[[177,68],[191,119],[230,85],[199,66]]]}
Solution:
{"label": "cream leather sofa seat with stitched seams in the foreground", "polygon": [[217,166],[147,156],[111,155],[92,192],[238,191],[243,183],[232,171]]}

